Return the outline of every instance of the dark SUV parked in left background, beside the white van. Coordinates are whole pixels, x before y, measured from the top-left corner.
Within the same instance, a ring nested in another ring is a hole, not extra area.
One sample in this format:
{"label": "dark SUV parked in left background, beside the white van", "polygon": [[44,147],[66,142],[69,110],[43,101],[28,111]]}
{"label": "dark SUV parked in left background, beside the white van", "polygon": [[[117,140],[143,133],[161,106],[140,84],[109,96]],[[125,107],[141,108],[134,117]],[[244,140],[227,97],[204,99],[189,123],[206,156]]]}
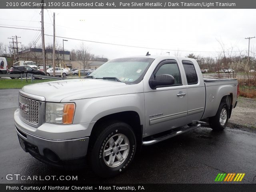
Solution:
{"label": "dark SUV parked in left background, beside the white van", "polygon": [[[36,75],[45,75],[42,70],[35,70],[30,66],[12,66],[8,69],[7,74],[21,74],[21,73],[32,73]],[[19,77],[11,77],[12,79],[18,79]]]}

